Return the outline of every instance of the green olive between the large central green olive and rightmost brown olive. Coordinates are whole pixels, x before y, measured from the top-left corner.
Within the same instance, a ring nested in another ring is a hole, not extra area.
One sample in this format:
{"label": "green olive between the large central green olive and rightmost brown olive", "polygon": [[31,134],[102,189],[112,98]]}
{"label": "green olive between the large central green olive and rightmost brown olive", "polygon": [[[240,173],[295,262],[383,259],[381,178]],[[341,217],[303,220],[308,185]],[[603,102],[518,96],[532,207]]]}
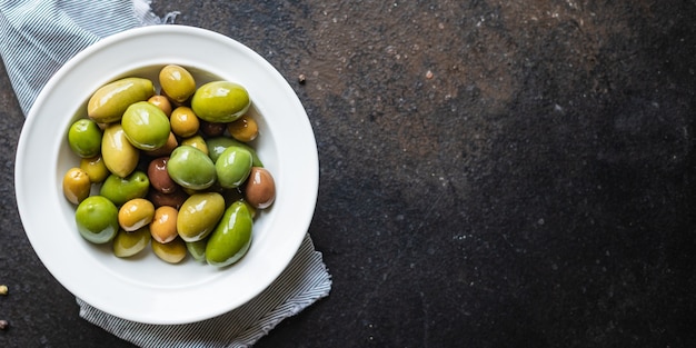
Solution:
{"label": "green olive between the large central green olive and rightmost brown olive", "polygon": [[218,183],[226,188],[237,188],[247,180],[253,160],[251,153],[240,147],[229,147],[215,162],[215,170],[218,177]]}

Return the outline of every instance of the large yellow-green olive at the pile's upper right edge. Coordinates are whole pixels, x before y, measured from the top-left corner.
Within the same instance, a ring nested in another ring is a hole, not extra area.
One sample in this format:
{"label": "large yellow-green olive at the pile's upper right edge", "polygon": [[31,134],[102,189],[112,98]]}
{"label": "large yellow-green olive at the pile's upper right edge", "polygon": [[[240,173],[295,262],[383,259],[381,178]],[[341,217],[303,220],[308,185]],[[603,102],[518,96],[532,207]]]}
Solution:
{"label": "large yellow-green olive at the pile's upper right edge", "polygon": [[250,105],[247,89],[231,81],[208,82],[199,87],[191,98],[193,112],[209,122],[235,121],[249,110]]}

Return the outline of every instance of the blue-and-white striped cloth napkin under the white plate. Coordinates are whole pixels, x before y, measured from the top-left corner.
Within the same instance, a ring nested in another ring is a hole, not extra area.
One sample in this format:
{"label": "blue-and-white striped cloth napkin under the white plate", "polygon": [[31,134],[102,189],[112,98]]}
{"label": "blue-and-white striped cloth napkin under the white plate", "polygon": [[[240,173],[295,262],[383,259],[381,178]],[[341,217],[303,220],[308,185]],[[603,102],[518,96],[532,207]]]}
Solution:
{"label": "blue-and-white striped cloth napkin under the white plate", "polygon": [[[72,56],[126,29],[165,24],[145,0],[0,0],[0,56],[24,115]],[[76,299],[80,316],[140,347],[248,347],[282,319],[329,295],[331,278],[307,235],[290,265],[262,294],[228,314],[187,325],[145,325]]]}

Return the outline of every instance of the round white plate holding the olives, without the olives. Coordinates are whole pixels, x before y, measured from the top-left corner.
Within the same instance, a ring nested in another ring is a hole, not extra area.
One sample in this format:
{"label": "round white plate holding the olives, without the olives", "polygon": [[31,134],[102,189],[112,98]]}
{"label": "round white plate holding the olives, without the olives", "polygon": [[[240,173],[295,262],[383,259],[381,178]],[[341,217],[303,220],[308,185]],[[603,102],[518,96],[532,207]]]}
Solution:
{"label": "round white plate holding the olives, without the olives", "polygon": [[[180,265],[150,250],[133,259],[84,240],[74,206],[62,196],[62,176],[79,159],[67,130],[100,86],[128,76],[149,77],[168,63],[195,72],[199,84],[218,77],[243,84],[259,121],[253,147],[274,175],[277,198],[253,226],[248,253],[218,269],[192,258]],[[207,72],[207,73],[206,73]],[[16,195],[27,237],[53,277],[107,314],[146,324],[186,324],[243,305],[288,266],[307,233],[319,185],[317,146],[299,99],[282,76],[243,44],[185,26],[132,29],[106,38],[66,63],[46,84],[23,126],[17,149]]]}

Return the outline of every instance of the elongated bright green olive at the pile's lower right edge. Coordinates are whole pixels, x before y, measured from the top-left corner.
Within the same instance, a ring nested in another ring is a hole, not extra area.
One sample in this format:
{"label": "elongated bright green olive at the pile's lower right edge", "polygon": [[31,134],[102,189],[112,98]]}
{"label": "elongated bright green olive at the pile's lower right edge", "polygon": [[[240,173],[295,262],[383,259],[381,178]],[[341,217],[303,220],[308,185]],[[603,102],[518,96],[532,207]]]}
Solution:
{"label": "elongated bright green olive at the pile's lower right edge", "polygon": [[220,223],[208,238],[206,261],[225,267],[239,261],[249,250],[253,219],[247,205],[236,201],[225,210]]}

